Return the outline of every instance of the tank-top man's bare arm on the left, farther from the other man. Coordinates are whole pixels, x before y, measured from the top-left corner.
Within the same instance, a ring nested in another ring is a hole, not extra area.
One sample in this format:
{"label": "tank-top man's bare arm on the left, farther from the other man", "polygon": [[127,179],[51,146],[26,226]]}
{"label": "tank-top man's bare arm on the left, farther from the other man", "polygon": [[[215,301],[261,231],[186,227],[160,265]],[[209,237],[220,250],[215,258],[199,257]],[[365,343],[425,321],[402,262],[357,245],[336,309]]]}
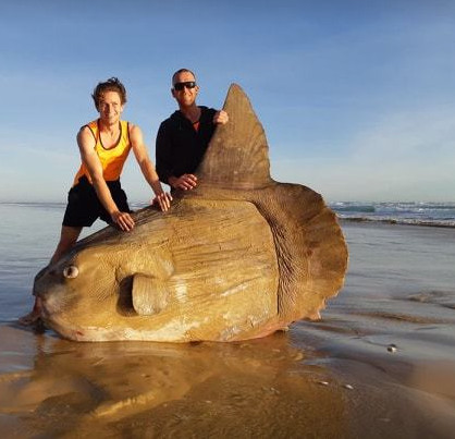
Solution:
{"label": "tank-top man's bare arm on the left, farther from the other man", "polygon": [[132,230],[134,228],[133,218],[130,214],[119,210],[112,198],[111,192],[106,184],[104,178],[102,176],[102,166],[95,151],[95,139],[88,126],[84,126],[77,133],[77,145],[79,147],[81,159],[90,174],[91,183],[98,199],[111,216],[112,221],[115,222],[120,229],[124,231]]}

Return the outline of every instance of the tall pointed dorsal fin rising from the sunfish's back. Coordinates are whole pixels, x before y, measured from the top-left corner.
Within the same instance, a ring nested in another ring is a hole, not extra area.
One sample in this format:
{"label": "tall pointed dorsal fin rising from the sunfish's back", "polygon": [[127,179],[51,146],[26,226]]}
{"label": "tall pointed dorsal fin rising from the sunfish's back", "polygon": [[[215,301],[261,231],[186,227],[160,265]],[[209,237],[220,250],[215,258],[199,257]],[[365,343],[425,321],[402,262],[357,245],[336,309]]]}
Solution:
{"label": "tall pointed dorsal fin rising from the sunfish's back", "polygon": [[262,125],[244,90],[232,84],[223,110],[229,122],[218,125],[197,175],[204,185],[253,190],[271,184],[269,147]]}

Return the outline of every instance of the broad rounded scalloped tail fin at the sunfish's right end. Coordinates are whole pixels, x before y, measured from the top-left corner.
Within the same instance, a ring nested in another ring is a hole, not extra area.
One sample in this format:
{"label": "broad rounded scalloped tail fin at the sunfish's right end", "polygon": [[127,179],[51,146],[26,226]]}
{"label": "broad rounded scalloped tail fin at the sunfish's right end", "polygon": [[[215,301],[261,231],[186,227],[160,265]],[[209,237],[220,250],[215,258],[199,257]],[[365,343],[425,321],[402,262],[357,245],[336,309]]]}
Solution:
{"label": "broad rounded scalloped tail fin at the sunfish's right end", "polygon": [[257,191],[253,202],[274,237],[281,321],[319,318],[325,300],[342,288],[348,264],[335,214],[320,194],[300,184],[276,183]]}

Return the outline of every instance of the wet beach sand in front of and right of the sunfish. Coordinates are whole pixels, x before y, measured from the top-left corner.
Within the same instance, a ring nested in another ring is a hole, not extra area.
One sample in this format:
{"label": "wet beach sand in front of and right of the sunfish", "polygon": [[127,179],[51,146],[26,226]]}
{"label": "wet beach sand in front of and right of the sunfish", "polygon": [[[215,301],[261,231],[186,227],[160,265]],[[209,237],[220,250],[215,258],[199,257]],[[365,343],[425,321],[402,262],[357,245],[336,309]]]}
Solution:
{"label": "wet beach sand in front of and right of the sunfish", "polygon": [[75,343],[4,319],[1,437],[453,438],[455,229],[342,225],[340,295],[265,339]]}

